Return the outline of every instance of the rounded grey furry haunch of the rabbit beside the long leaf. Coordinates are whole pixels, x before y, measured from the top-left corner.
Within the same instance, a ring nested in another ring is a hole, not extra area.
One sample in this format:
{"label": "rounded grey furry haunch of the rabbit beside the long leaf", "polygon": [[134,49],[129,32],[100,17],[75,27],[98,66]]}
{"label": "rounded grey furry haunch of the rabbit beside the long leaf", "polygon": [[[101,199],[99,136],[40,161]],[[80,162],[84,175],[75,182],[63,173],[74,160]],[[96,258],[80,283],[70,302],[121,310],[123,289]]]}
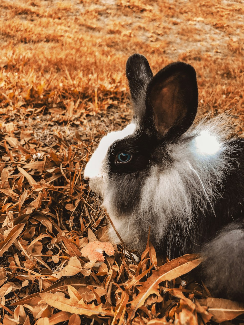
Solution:
{"label": "rounded grey furry haunch of the rabbit beside the long leaf", "polygon": [[213,295],[244,301],[244,223],[233,223],[203,249],[206,285]]}

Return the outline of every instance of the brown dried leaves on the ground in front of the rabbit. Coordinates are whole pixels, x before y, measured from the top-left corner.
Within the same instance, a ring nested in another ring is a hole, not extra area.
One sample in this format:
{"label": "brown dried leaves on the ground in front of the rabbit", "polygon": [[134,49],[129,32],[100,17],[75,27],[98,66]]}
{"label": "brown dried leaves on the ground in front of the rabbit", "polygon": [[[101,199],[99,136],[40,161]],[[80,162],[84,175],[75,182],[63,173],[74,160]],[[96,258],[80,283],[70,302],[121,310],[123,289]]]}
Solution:
{"label": "brown dried leaves on the ground in front of the rabbit", "polygon": [[[2,108],[2,323],[184,325],[241,315],[243,305],[211,298],[203,283],[183,276],[201,262],[196,254],[164,263],[148,241],[135,261],[122,246],[112,252],[102,244],[106,214],[83,170],[106,124],[91,108],[76,106],[35,108],[29,116],[23,105],[16,119],[9,118],[11,106]],[[121,107],[117,119],[123,123],[129,113],[125,103]],[[77,115],[82,126],[70,121]]]}

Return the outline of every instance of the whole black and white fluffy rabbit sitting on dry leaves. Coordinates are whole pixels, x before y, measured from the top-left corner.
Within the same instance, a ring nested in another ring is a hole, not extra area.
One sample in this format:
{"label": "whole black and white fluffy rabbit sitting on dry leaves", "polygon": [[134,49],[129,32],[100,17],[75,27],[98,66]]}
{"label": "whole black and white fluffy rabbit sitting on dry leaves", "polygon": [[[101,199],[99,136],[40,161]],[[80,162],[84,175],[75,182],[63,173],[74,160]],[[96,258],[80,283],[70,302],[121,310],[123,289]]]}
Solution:
{"label": "whole black and white fluffy rabbit sitting on dry leaves", "polygon": [[[104,136],[84,171],[121,238],[142,252],[151,226],[156,251],[201,252],[206,282],[244,300],[244,140],[222,117],[192,125],[196,72],[183,62],[155,76],[134,54],[126,65],[133,119]],[[112,227],[110,240],[119,240]]]}

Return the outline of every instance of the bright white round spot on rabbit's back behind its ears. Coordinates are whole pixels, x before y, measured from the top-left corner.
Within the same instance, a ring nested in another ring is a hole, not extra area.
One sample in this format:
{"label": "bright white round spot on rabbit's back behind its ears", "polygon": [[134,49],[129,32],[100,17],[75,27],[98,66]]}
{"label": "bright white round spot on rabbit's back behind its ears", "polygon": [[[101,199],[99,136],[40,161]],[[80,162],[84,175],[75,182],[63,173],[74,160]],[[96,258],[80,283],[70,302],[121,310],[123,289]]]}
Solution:
{"label": "bright white round spot on rabbit's back behind its ears", "polygon": [[211,136],[205,130],[201,131],[199,136],[196,137],[195,145],[198,153],[210,156],[216,154],[221,148],[216,136]]}

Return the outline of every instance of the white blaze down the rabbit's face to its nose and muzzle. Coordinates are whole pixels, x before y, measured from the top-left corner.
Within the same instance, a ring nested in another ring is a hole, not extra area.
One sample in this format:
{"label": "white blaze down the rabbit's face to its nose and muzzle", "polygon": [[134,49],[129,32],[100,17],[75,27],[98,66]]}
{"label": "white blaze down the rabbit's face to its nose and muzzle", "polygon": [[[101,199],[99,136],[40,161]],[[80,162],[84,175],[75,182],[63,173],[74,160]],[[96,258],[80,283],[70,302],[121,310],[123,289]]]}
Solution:
{"label": "white blaze down the rabbit's face to its nose and muzzle", "polygon": [[108,174],[108,153],[111,145],[117,140],[122,140],[132,135],[136,129],[137,125],[130,123],[123,130],[110,132],[102,138],[84,170],[84,178],[90,180],[89,185],[92,190],[102,194],[102,187],[105,185],[103,178]]}

